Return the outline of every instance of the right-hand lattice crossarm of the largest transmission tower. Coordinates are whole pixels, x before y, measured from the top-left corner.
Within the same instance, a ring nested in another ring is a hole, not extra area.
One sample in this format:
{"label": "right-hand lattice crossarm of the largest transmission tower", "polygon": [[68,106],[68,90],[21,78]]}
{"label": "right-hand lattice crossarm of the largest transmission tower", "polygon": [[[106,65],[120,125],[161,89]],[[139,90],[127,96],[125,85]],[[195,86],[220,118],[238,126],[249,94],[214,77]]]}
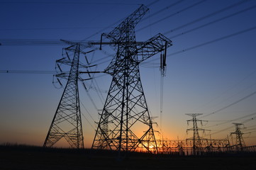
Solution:
{"label": "right-hand lattice crossarm of the largest transmission tower", "polygon": [[169,40],[169,38],[166,38],[164,35],[159,33],[143,44],[137,45],[137,50],[133,52],[133,55],[138,55],[137,62],[143,62],[144,60],[147,60],[158,52],[162,52],[164,50],[164,55],[166,55],[167,47],[170,46],[172,46],[172,40]]}

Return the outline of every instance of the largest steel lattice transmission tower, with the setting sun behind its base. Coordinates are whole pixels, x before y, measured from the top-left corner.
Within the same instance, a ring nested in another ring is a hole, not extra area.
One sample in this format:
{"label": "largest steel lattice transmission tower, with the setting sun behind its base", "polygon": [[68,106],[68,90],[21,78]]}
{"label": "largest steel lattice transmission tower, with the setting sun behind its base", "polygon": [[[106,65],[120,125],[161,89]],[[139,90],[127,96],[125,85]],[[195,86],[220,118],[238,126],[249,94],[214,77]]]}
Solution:
{"label": "largest steel lattice transmission tower, with the setting sun behind its base", "polygon": [[92,149],[133,152],[140,145],[150,152],[148,142],[157,148],[152,118],[140,81],[139,65],[158,52],[166,53],[172,41],[158,34],[148,41],[136,42],[135,26],[147,11],[147,7],[140,6],[110,33],[101,35],[101,40],[103,36],[110,40],[102,44],[113,45],[116,55],[104,71],[113,78]]}

